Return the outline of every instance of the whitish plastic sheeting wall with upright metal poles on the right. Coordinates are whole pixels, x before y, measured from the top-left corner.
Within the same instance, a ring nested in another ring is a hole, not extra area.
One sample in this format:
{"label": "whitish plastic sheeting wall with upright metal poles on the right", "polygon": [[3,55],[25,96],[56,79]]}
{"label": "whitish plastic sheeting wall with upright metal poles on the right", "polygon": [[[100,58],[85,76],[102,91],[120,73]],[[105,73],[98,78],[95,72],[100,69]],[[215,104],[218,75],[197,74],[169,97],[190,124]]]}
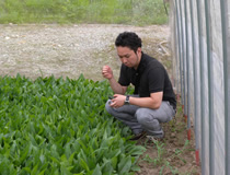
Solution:
{"label": "whitish plastic sheeting wall with upright metal poles on the right", "polygon": [[230,0],[173,0],[170,16],[175,89],[202,173],[230,175]]}

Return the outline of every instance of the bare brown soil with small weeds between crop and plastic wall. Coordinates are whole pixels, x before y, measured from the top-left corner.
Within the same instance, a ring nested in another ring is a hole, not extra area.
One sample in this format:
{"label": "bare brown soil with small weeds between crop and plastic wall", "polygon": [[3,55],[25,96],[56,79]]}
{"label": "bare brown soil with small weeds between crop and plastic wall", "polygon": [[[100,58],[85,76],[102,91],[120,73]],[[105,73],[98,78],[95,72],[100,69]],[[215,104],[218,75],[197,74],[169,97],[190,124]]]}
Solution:
{"label": "bare brown soil with small weeds between crop and plastic wall", "polygon": [[145,145],[147,151],[139,159],[141,171],[136,175],[200,175],[199,162],[195,158],[195,138],[191,128],[191,140],[183,117],[182,105],[179,100],[176,116],[166,124],[162,124],[164,138],[149,141],[141,139],[138,144]]}

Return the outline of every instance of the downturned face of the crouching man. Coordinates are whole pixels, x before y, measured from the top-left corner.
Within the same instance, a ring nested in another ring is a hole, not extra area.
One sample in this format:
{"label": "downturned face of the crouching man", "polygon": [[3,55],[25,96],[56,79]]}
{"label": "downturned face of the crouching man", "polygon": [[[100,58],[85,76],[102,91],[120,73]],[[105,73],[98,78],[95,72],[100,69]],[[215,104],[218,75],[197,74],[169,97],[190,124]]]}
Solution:
{"label": "downturned face of the crouching man", "polygon": [[117,49],[117,55],[120,59],[120,61],[129,67],[129,68],[138,68],[138,65],[140,62],[140,58],[141,58],[141,48],[139,47],[137,49],[137,51],[135,52],[134,50],[131,50],[128,47],[116,47]]}

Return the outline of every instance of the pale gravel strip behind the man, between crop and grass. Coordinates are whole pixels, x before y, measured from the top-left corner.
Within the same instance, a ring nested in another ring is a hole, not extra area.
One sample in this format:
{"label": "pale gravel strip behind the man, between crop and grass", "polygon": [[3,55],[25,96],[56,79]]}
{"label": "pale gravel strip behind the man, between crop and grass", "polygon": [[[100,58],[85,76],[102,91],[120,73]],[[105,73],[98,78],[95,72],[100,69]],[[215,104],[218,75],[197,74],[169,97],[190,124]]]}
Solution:
{"label": "pale gravel strip behind the man, between crop and grass", "polygon": [[118,77],[114,40],[124,31],[136,32],[148,54],[162,52],[156,44],[170,35],[168,26],[156,25],[0,25],[0,74],[77,79],[83,73],[97,81],[102,66],[110,65]]}

